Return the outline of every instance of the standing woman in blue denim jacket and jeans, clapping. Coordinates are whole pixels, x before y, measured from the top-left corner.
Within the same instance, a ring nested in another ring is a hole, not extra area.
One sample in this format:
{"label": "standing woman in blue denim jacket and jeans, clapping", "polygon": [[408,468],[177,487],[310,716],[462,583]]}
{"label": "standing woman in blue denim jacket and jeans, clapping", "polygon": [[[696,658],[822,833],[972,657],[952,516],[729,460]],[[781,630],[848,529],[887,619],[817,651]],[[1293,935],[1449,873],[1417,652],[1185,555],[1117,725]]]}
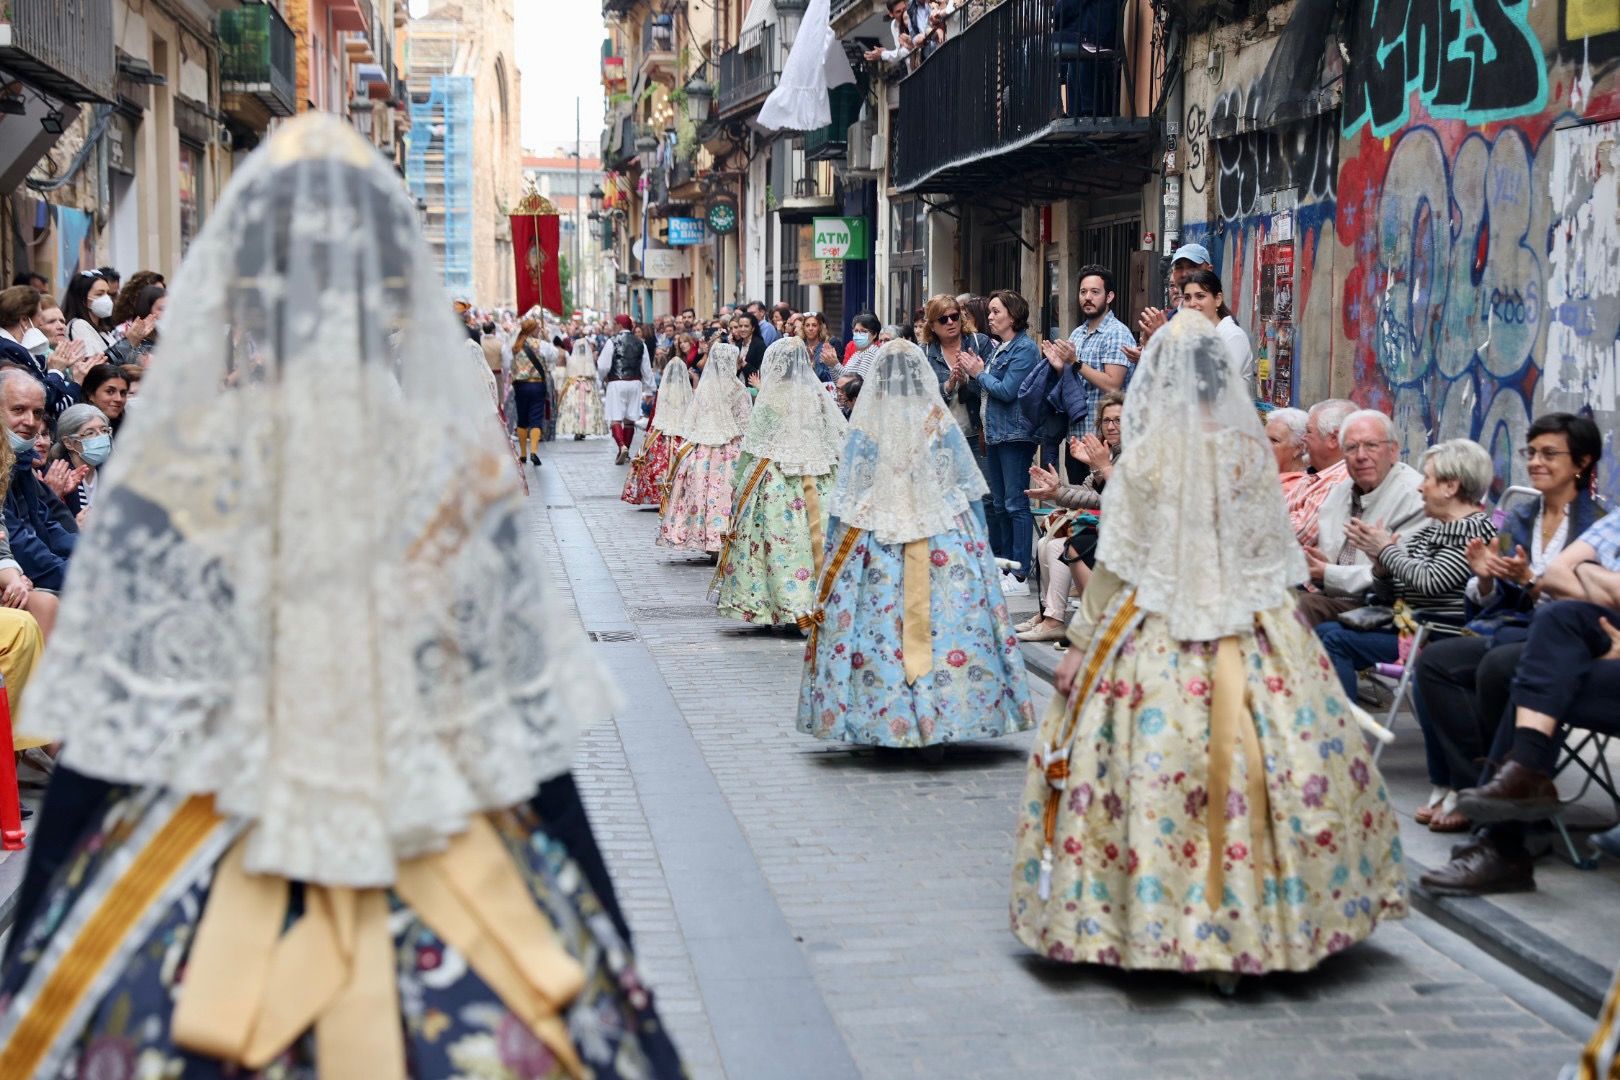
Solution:
{"label": "standing woman in blue denim jacket and jeans, clapping", "polygon": [[1025,578],[1035,546],[1035,518],[1024,494],[1029,465],[1035,460],[1035,429],[1025,410],[1019,408],[1019,389],[1042,359],[1027,330],[1029,301],[1011,288],[998,288],[990,293],[995,351],[988,363],[977,356],[959,359],[959,374],[977,382],[983,398],[990,551],[996,559],[1017,563],[1016,570],[1001,575],[1001,591],[1008,596],[1029,594]]}

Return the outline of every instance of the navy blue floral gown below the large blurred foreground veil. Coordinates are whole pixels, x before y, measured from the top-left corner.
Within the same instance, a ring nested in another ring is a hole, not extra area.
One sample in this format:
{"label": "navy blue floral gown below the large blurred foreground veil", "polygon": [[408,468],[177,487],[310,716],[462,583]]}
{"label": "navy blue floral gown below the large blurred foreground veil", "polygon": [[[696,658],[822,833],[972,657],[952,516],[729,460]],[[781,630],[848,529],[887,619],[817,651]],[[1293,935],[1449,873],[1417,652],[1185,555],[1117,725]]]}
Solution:
{"label": "navy blue floral gown below the large blurred foreground veil", "polygon": [[[112,803],[58,871],[28,939],[0,975],[0,1015],[37,994],[31,975],[52,936],[91,882],[104,873],[117,873],[128,847],[136,798]],[[526,808],[491,814],[491,823],[557,939],[585,967],[585,988],[562,1015],[586,1069],[596,1080],[685,1075],[629,947],[578,866]],[[191,1054],[170,1041],[186,955],[211,884],[212,873],[201,874],[141,934],[122,965],[109,965],[99,976],[104,984],[91,991],[94,1004],[71,1036],[70,1052],[60,1067],[32,1080],[316,1080],[313,1030],[258,1072]],[[296,891],[293,897],[296,904]],[[564,1080],[569,1075],[457,950],[397,899],[389,925],[407,1075],[480,1080]]]}

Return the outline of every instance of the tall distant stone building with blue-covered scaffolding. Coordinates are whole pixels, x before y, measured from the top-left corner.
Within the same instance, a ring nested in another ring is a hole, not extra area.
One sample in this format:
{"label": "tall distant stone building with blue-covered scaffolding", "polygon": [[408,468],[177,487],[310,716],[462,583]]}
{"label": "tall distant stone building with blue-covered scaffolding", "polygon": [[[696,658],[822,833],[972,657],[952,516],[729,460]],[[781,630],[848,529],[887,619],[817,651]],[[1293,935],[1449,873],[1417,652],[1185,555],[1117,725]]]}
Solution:
{"label": "tall distant stone building with blue-covered scaffolding", "polygon": [[452,293],[510,306],[510,207],[522,198],[522,97],[512,0],[446,0],[410,19],[405,178]]}

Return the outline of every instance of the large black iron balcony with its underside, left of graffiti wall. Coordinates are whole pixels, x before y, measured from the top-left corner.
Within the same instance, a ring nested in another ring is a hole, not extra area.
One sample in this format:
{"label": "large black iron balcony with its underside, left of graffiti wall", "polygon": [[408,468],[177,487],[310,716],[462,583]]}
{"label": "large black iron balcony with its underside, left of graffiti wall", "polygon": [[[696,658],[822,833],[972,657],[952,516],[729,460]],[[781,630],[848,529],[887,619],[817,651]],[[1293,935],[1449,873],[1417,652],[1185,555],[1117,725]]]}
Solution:
{"label": "large black iron balcony with its underside, left of graffiti wall", "polygon": [[[1121,5],[1121,18],[1145,2]],[[1142,42],[1126,65],[1118,23],[1059,24],[1061,10],[1004,0],[901,81],[897,189],[1037,202],[1145,183],[1152,105],[1123,73],[1145,60],[1158,92],[1158,42]]]}

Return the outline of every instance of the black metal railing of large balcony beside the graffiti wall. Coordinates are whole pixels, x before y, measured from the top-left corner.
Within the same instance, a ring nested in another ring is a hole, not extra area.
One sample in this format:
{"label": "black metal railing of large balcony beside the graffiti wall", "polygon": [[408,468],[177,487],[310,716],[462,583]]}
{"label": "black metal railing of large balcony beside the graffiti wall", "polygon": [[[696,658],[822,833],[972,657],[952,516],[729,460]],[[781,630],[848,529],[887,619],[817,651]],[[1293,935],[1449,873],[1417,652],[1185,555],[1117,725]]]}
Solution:
{"label": "black metal railing of large balcony beside the graffiti wall", "polygon": [[1059,128],[1145,128],[1136,102],[1121,102],[1118,26],[1058,24],[1059,11],[1050,0],[1004,0],[901,81],[897,188],[920,189]]}

